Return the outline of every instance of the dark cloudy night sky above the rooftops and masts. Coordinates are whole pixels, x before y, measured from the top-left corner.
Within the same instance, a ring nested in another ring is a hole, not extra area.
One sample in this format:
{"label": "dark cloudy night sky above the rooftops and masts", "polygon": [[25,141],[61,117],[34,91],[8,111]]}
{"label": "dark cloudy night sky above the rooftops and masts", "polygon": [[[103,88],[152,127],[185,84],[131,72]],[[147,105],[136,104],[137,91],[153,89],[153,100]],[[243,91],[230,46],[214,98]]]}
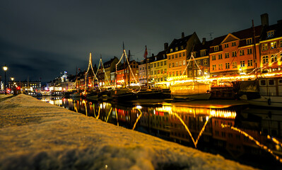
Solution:
{"label": "dark cloudy night sky above the rooftops and masts", "polygon": [[[163,50],[165,42],[194,32],[211,40],[282,19],[282,1],[74,1],[0,0],[0,61],[8,66],[7,79],[16,81],[59,77],[87,69],[93,63],[122,56],[122,42],[134,60]],[[212,33],[210,35],[210,33]],[[2,81],[4,71],[1,69]]]}

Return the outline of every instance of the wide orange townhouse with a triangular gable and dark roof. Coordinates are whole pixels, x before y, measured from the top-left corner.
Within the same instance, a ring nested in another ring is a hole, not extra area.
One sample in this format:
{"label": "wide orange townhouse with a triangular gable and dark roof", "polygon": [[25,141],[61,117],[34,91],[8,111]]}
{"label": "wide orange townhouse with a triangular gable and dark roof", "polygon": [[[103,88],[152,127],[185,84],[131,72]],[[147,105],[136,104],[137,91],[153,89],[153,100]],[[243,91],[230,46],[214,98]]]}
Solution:
{"label": "wide orange townhouse with a triangular gable and dark roof", "polygon": [[209,54],[211,77],[255,74],[259,43],[254,41],[259,41],[261,33],[262,26],[256,26],[215,38]]}

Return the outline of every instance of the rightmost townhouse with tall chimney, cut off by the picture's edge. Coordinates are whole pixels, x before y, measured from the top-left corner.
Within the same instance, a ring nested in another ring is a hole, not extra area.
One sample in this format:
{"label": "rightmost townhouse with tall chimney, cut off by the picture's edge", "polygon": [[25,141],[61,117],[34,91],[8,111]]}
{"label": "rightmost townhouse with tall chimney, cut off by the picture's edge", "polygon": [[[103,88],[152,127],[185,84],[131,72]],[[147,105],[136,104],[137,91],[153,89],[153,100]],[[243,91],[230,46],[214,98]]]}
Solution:
{"label": "rightmost townhouse with tall chimney, cut off by the picture's edge", "polygon": [[261,73],[275,74],[281,71],[282,64],[282,20],[269,26],[267,13],[264,13],[261,18],[263,27],[259,42]]}

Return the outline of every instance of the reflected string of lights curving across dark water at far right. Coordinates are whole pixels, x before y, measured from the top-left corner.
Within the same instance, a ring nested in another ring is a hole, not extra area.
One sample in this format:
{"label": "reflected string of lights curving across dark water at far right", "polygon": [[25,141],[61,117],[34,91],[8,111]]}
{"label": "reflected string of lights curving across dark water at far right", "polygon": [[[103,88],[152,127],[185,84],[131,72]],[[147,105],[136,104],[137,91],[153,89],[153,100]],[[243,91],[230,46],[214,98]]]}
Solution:
{"label": "reflected string of lights curving across dark water at far right", "polygon": [[265,145],[262,145],[261,143],[259,143],[259,141],[255,140],[254,137],[248,135],[247,132],[244,132],[244,131],[242,131],[242,130],[240,130],[240,129],[238,129],[238,128],[235,128],[235,127],[233,127],[233,126],[230,126],[230,125],[223,125],[223,124],[221,124],[221,128],[230,128],[230,129],[232,129],[232,130],[235,130],[235,131],[237,131],[237,132],[240,132],[242,135],[245,135],[245,137],[248,137],[249,140],[254,141],[254,143],[255,143],[256,145],[258,145],[259,147],[261,147],[262,149],[264,149],[266,152],[269,152],[278,162],[281,162],[281,163],[282,163],[282,159],[281,159],[280,157],[278,157],[276,154],[274,154],[274,152],[273,152],[271,149],[269,149],[269,148],[266,147]]}

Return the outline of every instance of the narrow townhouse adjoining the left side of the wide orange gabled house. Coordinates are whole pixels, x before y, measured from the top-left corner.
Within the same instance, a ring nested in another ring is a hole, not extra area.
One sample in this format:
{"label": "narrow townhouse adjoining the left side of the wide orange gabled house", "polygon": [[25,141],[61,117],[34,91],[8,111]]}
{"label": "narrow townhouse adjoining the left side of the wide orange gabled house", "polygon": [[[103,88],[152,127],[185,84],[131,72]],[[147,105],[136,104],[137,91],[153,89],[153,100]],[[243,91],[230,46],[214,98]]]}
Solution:
{"label": "narrow townhouse adjoining the left side of the wide orange gabled house", "polygon": [[212,41],[203,41],[194,46],[193,57],[187,60],[188,77],[197,79],[210,77],[209,72],[209,48]]}

